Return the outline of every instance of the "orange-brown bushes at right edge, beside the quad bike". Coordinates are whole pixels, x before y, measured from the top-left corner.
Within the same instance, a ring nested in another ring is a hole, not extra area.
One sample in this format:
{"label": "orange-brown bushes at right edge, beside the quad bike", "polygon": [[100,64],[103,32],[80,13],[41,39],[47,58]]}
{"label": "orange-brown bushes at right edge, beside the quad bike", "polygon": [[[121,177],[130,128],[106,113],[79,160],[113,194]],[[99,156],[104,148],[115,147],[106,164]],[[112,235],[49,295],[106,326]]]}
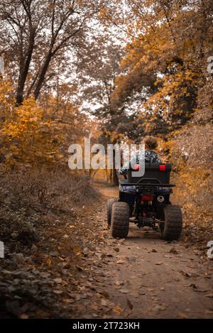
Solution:
{"label": "orange-brown bushes at right edge, beside the quad bike", "polygon": [[206,251],[213,234],[213,136],[211,121],[195,124],[195,119],[163,143],[163,152],[174,166],[175,200],[182,206],[185,240]]}

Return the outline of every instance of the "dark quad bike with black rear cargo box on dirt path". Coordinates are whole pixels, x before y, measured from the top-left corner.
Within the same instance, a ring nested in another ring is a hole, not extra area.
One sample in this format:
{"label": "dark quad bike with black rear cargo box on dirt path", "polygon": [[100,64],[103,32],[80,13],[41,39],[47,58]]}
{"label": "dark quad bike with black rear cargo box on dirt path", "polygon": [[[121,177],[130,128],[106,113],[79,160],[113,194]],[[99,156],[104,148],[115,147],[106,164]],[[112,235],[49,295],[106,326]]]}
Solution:
{"label": "dark quad bike with black rear cargo box on dirt path", "polygon": [[[139,228],[150,226],[159,230],[165,240],[177,240],[182,231],[182,213],[178,204],[171,204],[172,165],[145,163],[142,177],[132,176],[139,165],[129,168],[126,179],[119,180],[119,198],[107,202],[107,222],[114,238],[126,238],[129,222]],[[126,189],[131,191],[126,191]]]}

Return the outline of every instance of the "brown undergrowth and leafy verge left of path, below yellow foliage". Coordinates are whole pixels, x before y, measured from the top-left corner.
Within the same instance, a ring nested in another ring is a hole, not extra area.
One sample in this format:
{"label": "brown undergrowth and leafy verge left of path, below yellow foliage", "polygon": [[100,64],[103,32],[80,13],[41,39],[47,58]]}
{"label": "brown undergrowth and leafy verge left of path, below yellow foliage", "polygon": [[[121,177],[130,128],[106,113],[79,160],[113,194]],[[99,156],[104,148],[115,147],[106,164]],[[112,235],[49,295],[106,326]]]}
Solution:
{"label": "brown undergrowth and leafy verge left of path, below yellow foliage", "polygon": [[1,174],[0,317],[60,316],[59,297],[75,288],[90,228],[81,217],[94,198],[87,175],[69,170]]}

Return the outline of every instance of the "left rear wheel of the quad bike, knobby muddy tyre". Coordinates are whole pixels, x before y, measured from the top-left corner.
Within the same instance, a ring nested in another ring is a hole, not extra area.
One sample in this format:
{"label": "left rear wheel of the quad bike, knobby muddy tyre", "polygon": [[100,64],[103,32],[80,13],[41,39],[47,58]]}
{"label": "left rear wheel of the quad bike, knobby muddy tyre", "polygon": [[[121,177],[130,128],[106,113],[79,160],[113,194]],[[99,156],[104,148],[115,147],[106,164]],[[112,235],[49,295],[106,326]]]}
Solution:
{"label": "left rear wheel of the quad bike, knobby muddy tyre", "polygon": [[111,209],[111,235],[126,238],[129,233],[129,204],[114,202]]}

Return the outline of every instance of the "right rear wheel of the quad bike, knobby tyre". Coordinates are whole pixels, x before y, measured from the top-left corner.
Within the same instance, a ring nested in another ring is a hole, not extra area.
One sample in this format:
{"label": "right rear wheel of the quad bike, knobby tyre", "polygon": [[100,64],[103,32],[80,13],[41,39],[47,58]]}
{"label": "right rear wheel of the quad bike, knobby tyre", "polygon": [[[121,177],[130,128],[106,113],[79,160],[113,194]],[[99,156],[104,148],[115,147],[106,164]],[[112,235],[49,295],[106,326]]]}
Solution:
{"label": "right rear wheel of the quad bike, knobby tyre", "polygon": [[182,231],[182,212],[178,204],[168,204],[164,207],[164,223],[160,224],[160,234],[163,239],[176,241]]}

